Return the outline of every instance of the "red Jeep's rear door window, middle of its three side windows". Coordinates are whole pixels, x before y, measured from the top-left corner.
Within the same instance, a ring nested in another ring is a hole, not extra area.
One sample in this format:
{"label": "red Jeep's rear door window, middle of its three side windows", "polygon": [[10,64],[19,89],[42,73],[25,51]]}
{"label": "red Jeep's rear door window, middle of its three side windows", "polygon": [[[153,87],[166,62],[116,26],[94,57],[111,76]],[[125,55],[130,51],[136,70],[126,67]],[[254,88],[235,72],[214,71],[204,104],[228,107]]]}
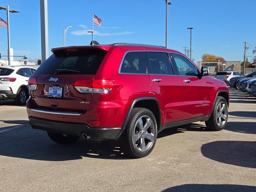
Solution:
{"label": "red Jeep's rear door window, middle of its three side windows", "polygon": [[173,75],[168,54],[164,52],[148,52],[148,73]]}

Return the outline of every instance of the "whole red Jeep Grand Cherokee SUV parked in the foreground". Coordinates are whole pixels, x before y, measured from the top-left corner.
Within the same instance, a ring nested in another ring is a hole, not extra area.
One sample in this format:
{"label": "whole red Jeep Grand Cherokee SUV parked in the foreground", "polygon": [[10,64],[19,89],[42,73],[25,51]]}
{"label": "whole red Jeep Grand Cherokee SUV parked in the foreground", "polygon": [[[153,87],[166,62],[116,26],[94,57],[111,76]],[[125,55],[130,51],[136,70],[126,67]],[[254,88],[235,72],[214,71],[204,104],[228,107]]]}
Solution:
{"label": "whole red Jeep Grand Cherokee SUV parked in the foreground", "polygon": [[46,130],[55,142],[121,139],[126,154],[141,158],[165,128],[226,125],[226,83],[180,52],[124,43],[52,52],[29,79],[27,112],[32,128]]}

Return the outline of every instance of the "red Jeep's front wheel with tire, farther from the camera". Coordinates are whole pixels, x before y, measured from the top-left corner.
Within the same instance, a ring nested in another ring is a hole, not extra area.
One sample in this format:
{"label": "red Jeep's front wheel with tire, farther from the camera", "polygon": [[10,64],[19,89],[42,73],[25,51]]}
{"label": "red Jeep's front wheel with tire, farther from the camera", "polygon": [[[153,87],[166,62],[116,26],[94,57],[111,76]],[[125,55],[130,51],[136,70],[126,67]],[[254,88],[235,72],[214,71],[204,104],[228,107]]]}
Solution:
{"label": "red Jeep's front wheel with tire, farther from the camera", "polygon": [[217,96],[210,119],[205,122],[210,130],[220,131],[224,129],[228,120],[228,104],[224,97]]}

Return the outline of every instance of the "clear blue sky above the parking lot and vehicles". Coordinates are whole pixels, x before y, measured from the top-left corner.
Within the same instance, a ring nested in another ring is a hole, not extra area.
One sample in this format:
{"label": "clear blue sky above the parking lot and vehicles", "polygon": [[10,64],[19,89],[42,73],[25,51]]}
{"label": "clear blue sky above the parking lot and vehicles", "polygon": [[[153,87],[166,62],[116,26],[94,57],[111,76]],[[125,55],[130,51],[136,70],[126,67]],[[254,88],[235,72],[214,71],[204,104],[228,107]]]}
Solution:
{"label": "clear blue sky above the parking lot and vehicles", "polygon": [[[169,6],[168,48],[183,52],[190,46],[192,58],[214,54],[227,61],[243,59],[244,41],[247,56],[256,46],[255,0],[172,0]],[[20,13],[10,13],[10,43],[15,55],[41,58],[40,0],[0,0],[0,6]],[[48,0],[48,34],[50,49],[90,44],[92,12],[102,19],[94,24],[94,40],[100,44],[128,42],[165,45],[164,0]],[[0,18],[7,20],[6,11]],[[0,26],[0,53],[7,54],[7,29]],[[252,57],[248,57],[249,60]]]}

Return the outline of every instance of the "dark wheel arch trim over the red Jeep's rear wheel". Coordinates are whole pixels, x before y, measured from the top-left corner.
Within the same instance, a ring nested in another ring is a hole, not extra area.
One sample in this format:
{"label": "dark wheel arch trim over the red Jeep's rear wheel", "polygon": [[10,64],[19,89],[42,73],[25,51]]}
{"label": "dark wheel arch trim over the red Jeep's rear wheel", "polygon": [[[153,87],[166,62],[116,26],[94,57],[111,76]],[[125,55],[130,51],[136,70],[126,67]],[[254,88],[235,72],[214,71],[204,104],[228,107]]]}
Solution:
{"label": "dark wheel arch trim over the red Jeep's rear wheel", "polygon": [[135,104],[138,101],[143,101],[143,100],[154,100],[156,102],[156,106],[157,106],[157,110],[158,110],[158,119],[159,119],[159,125],[158,126],[161,125],[161,111],[160,111],[160,106],[159,106],[159,102],[158,102],[157,98],[155,98],[155,97],[140,97],[140,98],[136,98],[136,99],[133,100],[133,102],[130,105],[130,108],[129,108],[127,114],[126,114],[126,117],[124,119],[122,127],[126,127],[126,125],[128,124],[132,109],[134,108]]}

